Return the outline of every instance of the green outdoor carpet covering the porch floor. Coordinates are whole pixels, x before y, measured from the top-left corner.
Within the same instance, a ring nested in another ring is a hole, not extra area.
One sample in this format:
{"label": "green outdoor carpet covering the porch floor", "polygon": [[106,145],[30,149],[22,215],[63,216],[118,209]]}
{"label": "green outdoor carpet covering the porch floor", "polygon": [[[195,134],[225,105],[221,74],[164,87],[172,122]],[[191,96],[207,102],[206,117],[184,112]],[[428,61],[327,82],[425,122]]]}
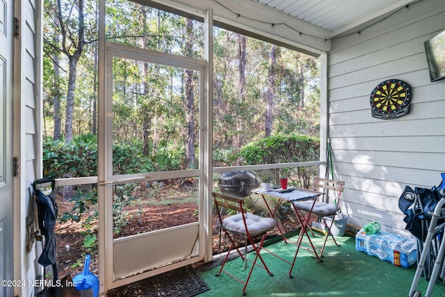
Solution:
{"label": "green outdoor carpet covering the porch floor", "polygon": [[[355,250],[355,237],[345,235],[336,237],[340,248],[327,243],[323,252],[323,262],[305,250],[298,252],[293,278],[289,278],[290,265],[261,251],[264,261],[273,276],[264,269],[255,268],[246,289],[247,296],[409,296],[416,264],[409,268],[394,266],[378,257]],[[291,261],[296,246],[282,241],[267,246],[284,259]],[[253,259],[252,252],[248,255]],[[200,294],[205,296],[242,296],[243,284],[236,282],[225,273],[216,277],[220,266],[203,271],[201,277],[210,290]],[[243,261],[236,258],[225,265],[225,270],[238,273],[245,280]],[[241,273],[241,274],[240,274]],[[424,296],[428,282],[421,277],[418,289]],[[436,282],[432,296],[445,296],[445,286]]]}

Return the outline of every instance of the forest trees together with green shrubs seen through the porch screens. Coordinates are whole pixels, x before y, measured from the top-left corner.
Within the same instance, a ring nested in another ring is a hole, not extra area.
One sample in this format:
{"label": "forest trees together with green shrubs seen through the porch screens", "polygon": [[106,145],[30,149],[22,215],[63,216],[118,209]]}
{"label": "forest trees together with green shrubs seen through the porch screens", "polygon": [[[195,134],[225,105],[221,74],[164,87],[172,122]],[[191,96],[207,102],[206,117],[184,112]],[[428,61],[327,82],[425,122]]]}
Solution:
{"label": "forest trees together with green shrubs seen through the porch screens", "polygon": [[[106,41],[204,60],[202,20],[166,10],[107,0]],[[97,19],[97,1],[44,1],[45,177],[97,175]],[[113,174],[199,166],[197,81],[191,70],[113,60]],[[318,57],[214,26],[212,83],[213,166],[318,161]],[[307,175],[295,182],[307,186]],[[79,221],[96,186],[67,187],[64,198],[72,210],[61,218]]]}

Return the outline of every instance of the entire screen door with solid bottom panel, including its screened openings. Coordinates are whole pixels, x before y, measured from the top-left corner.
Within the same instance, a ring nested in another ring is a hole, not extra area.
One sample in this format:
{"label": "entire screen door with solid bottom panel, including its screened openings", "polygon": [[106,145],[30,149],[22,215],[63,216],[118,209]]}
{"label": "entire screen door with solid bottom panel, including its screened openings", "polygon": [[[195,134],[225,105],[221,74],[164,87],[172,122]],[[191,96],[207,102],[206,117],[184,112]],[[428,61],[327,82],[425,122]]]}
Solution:
{"label": "entire screen door with solid bottom panel, including its screened openings", "polygon": [[[107,266],[113,269],[108,289],[204,258],[203,189],[209,180],[202,156],[205,63],[113,48],[106,54],[104,146],[105,163],[113,166],[103,183]],[[140,156],[113,150],[135,143],[143,147],[142,163]],[[190,150],[195,159],[184,162]]]}

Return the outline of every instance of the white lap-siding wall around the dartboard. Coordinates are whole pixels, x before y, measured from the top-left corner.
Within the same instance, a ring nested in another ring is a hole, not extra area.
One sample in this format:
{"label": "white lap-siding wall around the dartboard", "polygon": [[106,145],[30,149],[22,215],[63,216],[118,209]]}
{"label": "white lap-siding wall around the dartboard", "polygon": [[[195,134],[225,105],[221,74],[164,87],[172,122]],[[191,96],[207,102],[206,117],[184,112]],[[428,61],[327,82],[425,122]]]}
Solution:
{"label": "white lap-siding wall around the dartboard", "polygon": [[[375,220],[409,235],[398,209],[405,185],[430,188],[445,172],[445,80],[430,83],[423,48],[445,29],[444,4],[421,1],[359,36],[332,40],[329,135],[335,175],[346,182],[341,207],[353,225]],[[371,117],[371,91],[385,79],[412,87],[408,115]]]}

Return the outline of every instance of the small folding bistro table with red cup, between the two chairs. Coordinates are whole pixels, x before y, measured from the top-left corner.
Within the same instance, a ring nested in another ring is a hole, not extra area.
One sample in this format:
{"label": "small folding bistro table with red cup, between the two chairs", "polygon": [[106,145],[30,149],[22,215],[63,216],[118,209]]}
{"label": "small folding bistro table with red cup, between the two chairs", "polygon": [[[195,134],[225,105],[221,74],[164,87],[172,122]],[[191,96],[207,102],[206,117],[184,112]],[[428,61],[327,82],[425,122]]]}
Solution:
{"label": "small folding bistro table with red cup, between the two chairs", "polygon": [[[307,190],[305,188],[294,188],[294,187],[288,187],[288,189],[286,189],[286,190],[283,190],[282,188],[278,188],[278,189],[273,189],[270,191],[263,191],[263,190],[261,190],[261,188],[257,188],[257,189],[254,189],[252,192],[261,195],[261,197],[264,200],[264,203],[266,204],[268,212],[272,218],[275,218],[275,215],[277,214],[277,211],[280,208],[280,205],[282,203],[290,202],[293,207],[293,210],[295,211],[295,214],[298,218],[298,221],[301,224],[301,231],[298,234],[297,241],[291,241],[288,238],[286,238],[286,236],[284,236],[284,233],[282,232],[282,230],[280,228],[280,225],[277,224],[277,228],[280,231],[280,234],[281,234],[284,242],[285,243],[293,243],[297,246],[295,256],[293,257],[293,262],[289,262],[286,259],[283,259],[282,257],[280,257],[279,255],[276,255],[273,252],[268,251],[268,252],[270,252],[270,254],[274,255],[275,257],[278,257],[279,259],[282,259],[284,262],[291,264],[291,270],[289,271],[289,277],[293,278],[291,273],[293,270],[293,266],[295,265],[298,251],[300,250],[300,246],[301,246],[304,236],[306,236],[309,241],[310,249],[308,251],[312,252],[315,255],[315,257],[318,259],[318,261],[321,262],[322,260],[318,256],[318,252],[316,251],[316,248],[315,248],[314,244],[312,243],[312,240],[307,232],[307,227],[308,227],[309,218],[312,214],[312,209],[314,208],[315,202],[316,202],[318,196],[324,195],[324,193]],[[272,207],[270,207],[270,203],[268,202],[268,199],[266,199],[266,196],[268,198],[274,198],[275,200],[277,200],[277,204],[275,204],[275,207],[273,207],[273,209],[272,209]],[[314,201],[310,211],[308,211],[306,213],[306,215],[300,214],[300,212],[297,211],[297,209],[295,208],[295,206],[292,203],[292,202],[301,201],[301,200],[313,200]]]}

